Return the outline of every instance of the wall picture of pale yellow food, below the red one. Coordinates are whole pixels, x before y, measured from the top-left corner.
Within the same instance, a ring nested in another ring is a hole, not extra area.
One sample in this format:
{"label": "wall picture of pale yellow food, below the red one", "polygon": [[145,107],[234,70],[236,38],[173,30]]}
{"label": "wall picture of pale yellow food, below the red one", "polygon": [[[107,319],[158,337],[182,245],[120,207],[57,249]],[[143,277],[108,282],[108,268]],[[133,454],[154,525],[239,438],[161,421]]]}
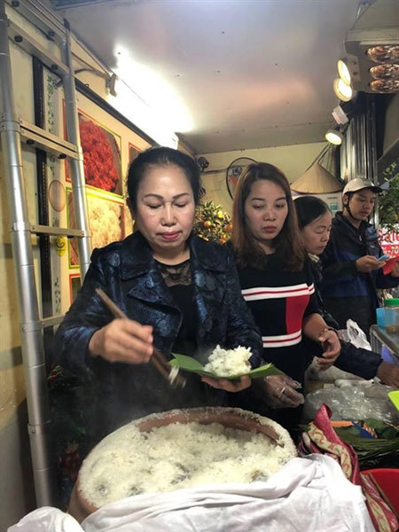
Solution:
{"label": "wall picture of pale yellow food, below the red one", "polygon": [[[74,198],[72,190],[67,188],[67,217],[68,226],[75,228]],[[113,196],[107,196],[99,191],[88,191],[89,224],[92,239],[92,248],[104,247],[115,240],[125,238],[125,203]],[[69,267],[79,266],[77,239],[69,239],[68,246]]]}

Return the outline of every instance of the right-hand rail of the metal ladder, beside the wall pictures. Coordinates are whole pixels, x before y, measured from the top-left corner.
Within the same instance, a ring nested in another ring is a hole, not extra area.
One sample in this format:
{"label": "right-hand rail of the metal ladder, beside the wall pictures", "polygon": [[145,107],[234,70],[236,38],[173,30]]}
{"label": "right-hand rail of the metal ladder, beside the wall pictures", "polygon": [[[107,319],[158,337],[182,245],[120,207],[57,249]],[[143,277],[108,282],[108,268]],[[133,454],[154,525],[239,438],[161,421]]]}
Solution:
{"label": "right-hand rail of the metal ladder, beside the wall pictures", "polygon": [[66,28],[66,41],[63,43],[63,60],[69,67],[69,74],[64,76],[65,106],[66,106],[66,131],[68,140],[76,145],[78,159],[69,160],[71,171],[72,190],[74,194],[74,217],[76,226],[84,231],[84,236],[78,239],[79,264],[82,281],[90,266],[91,236],[88,220],[88,207],[86,198],[86,184],[84,181],[83,153],[81,136],[79,133],[79,120],[76,105],[76,90],[74,86],[74,66],[72,64],[71,37]]}

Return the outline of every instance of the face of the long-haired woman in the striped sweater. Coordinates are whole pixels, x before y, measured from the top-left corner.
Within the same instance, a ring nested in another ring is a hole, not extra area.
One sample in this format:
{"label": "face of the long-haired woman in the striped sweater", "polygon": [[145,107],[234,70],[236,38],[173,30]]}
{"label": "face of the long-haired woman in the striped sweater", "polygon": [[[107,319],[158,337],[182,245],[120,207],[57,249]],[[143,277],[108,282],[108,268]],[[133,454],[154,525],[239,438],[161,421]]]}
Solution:
{"label": "face of the long-haired woman in the striped sweater", "polygon": [[244,205],[246,226],[267,251],[283,229],[288,215],[286,192],[265,179],[255,181]]}

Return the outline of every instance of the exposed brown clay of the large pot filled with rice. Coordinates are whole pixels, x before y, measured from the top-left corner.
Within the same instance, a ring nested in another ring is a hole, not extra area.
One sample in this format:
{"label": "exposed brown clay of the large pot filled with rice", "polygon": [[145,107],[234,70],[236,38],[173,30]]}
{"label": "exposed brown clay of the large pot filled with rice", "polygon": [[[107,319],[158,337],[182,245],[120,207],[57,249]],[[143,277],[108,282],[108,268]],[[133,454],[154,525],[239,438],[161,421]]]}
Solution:
{"label": "exposed brown clay of the large pot filled with rice", "polygon": [[[274,421],[271,421],[268,418],[262,418],[253,412],[243,411],[237,408],[207,407],[166,411],[137,419],[134,424],[138,426],[140,431],[150,432],[153,428],[166,426],[171,423],[191,422],[198,422],[204,425],[220,423],[223,426],[246,430],[248,432],[256,431],[264,434],[265,437],[270,438],[276,442],[277,445],[282,445],[282,443],[279,442],[279,434],[274,427],[276,426]],[[282,427],[280,428],[283,430]],[[92,505],[84,497],[84,494],[80,489],[78,476],[69,501],[68,512],[73,515],[76,520],[81,522],[90,515],[90,513],[96,512],[96,510],[98,510],[98,508]]]}

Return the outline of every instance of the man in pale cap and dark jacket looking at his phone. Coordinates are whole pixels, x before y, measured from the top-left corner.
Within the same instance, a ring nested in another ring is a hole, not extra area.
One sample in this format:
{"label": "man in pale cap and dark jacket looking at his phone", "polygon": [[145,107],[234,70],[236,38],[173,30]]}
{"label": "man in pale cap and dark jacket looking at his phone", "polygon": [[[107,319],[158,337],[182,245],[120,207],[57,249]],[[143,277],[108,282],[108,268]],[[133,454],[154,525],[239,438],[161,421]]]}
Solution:
{"label": "man in pale cap and dark jacket looking at his phone", "polygon": [[399,284],[399,262],[391,275],[381,270],[385,262],[377,231],[368,223],[376,195],[381,189],[360,177],[348,182],[342,192],[343,212],[332,220],[331,237],[321,256],[325,308],[346,328],[348,318],[369,335],[379,307],[377,288]]}

